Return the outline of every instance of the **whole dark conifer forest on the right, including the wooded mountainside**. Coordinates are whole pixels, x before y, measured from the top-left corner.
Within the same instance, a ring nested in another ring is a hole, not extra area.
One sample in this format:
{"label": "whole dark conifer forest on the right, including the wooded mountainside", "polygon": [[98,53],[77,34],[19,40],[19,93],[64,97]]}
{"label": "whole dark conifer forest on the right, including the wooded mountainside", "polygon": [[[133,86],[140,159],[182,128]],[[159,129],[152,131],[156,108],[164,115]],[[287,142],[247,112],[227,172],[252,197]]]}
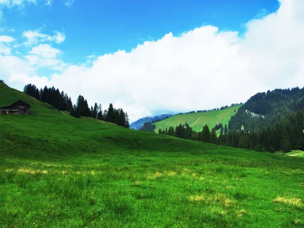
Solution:
{"label": "whole dark conifer forest on the right, including the wooded mountainside", "polygon": [[[220,130],[217,137],[216,131]],[[304,150],[304,88],[276,89],[252,96],[229,125],[195,132],[186,123],[159,134],[257,151]]]}

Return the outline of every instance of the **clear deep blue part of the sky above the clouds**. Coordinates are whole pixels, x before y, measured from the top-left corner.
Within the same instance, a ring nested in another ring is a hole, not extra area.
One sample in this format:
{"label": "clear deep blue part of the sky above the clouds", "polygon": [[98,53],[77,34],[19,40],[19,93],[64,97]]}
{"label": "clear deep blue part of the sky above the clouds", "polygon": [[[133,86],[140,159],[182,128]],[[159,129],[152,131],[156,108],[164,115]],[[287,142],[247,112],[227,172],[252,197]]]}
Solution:
{"label": "clear deep blue part of the sky above the clouds", "polygon": [[[275,12],[276,0],[205,0],[205,1],[70,1],[53,0],[3,9],[1,26],[15,29],[12,34],[41,28],[52,34],[58,30],[65,41],[54,45],[63,51],[68,63],[85,62],[91,54],[103,55],[119,49],[131,51],[137,44],[158,40],[168,32],[178,35],[205,24],[221,30],[246,29],[244,24],[261,14]],[[6,34],[6,29],[2,34]],[[22,50],[22,49],[21,49]],[[19,50],[20,51],[20,50]],[[25,50],[23,50],[25,51]]]}

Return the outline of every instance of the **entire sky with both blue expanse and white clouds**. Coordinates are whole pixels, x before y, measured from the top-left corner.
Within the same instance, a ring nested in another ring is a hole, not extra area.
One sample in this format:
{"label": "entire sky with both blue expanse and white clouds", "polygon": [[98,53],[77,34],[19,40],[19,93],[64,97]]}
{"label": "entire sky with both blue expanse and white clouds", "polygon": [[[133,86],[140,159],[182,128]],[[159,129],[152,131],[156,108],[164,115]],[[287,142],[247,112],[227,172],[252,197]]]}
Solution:
{"label": "entire sky with both blue expanse and white clouds", "polygon": [[130,121],[304,86],[303,0],[0,0],[0,78]]}

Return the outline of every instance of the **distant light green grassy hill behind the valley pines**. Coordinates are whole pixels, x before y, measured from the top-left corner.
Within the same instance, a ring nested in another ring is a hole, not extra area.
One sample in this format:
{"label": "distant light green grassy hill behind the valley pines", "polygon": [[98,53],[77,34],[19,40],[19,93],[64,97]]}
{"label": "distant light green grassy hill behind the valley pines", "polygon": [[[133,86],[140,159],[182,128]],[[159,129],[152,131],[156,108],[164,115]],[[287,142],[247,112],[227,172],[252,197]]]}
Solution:
{"label": "distant light green grassy hill behind the valley pines", "polygon": [[223,125],[228,124],[230,118],[235,115],[234,110],[238,110],[241,105],[236,105],[234,107],[229,107],[224,110],[214,110],[214,111],[204,111],[196,113],[188,113],[182,115],[176,115],[168,119],[162,120],[155,123],[156,129],[155,132],[158,133],[158,130],[162,130],[173,126],[174,128],[179,124],[185,124],[187,122],[189,126],[199,132],[203,130],[203,126],[206,124],[208,127],[213,128],[216,124],[222,123]]}

